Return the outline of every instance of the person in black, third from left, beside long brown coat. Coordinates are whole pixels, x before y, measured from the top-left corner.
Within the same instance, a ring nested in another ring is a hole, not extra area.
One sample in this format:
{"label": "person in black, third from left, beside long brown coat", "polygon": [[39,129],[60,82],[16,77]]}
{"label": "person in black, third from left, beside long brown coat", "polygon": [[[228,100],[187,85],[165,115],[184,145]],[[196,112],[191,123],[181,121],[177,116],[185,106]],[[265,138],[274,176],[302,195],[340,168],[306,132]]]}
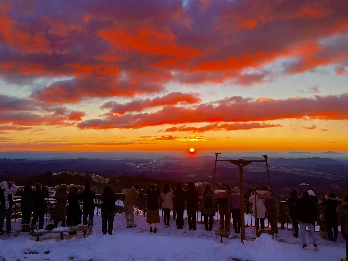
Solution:
{"label": "person in black, third from left, beside long brown coat", "polygon": [[44,228],[44,217],[46,213],[46,200],[49,198],[49,193],[46,187],[42,187],[40,183],[36,184],[36,189],[33,192],[33,220],[31,226],[36,224],[37,219],[39,218],[39,229]]}

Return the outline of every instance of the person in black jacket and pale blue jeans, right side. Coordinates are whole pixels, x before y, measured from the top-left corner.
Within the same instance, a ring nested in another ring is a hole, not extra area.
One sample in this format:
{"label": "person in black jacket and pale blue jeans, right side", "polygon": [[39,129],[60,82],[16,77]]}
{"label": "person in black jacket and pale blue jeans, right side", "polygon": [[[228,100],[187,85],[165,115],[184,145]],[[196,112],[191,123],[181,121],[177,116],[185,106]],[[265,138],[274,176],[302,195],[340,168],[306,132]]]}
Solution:
{"label": "person in black jacket and pale blue jeans, right side", "polygon": [[317,219],[317,204],[309,198],[308,192],[303,192],[303,197],[295,203],[295,219],[300,222],[302,248],[307,250],[306,227],[312,235],[314,249],[318,250],[317,238],[314,232],[313,223]]}

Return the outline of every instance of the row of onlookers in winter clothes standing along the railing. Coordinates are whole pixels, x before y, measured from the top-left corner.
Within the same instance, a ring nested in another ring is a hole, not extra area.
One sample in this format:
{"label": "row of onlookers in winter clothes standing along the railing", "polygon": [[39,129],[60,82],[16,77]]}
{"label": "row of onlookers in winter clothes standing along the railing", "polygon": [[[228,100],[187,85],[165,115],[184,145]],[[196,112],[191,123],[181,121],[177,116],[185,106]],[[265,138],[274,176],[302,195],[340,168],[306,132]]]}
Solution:
{"label": "row of onlookers in winter clothes standing along the railing", "polygon": [[[204,216],[204,227],[211,231],[213,228],[213,217],[216,213],[216,206],[219,207],[220,215],[220,230],[230,230],[230,213],[232,215],[233,229],[236,234],[240,233],[240,195],[239,188],[231,190],[226,182],[222,182],[221,189],[228,190],[230,198],[218,198],[218,204],[215,204],[214,191],[210,185],[206,185],[202,194],[202,215]],[[6,232],[11,233],[11,206],[14,204],[12,194],[16,193],[17,187],[14,182],[0,183],[0,233],[3,233],[3,223],[6,218]],[[159,197],[162,197],[162,206],[164,214],[164,227],[170,227],[171,210],[173,216],[176,216],[177,229],[183,229],[184,225],[184,210],[186,206],[187,219],[190,231],[196,231],[196,212],[199,192],[195,188],[194,182],[189,182],[188,190],[184,190],[180,182],[177,183],[174,191],[169,184],[164,186],[161,191],[156,183],[152,183],[147,189],[147,206],[144,211],[147,211],[147,223],[149,224],[150,232],[157,232],[157,224],[160,223],[159,214]],[[263,199],[258,197],[260,188],[256,188],[256,196],[251,193],[249,201],[252,203],[252,211],[255,216],[255,226],[259,230],[264,229],[264,221],[267,213],[268,221],[271,230],[275,237],[278,235],[277,222],[277,199],[274,197],[274,191],[270,187],[264,187],[262,190],[268,190],[273,196],[272,198]],[[134,200],[139,198],[139,185],[134,185],[128,190],[124,200],[124,212],[127,228],[136,227],[134,221]],[[29,231],[31,227],[39,220],[38,229],[44,227],[44,216],[46,213],[46,198],[49,197],[48,189],[38,183],[34,190],[29,185],[25,185],[21,199],[22,211],[22,231]],[[79,224],[87,225],[87,219],[93,225],[93,217],[95,211],[95,192],[93,192],[89,183],[85,184],[85,189],[81,193],[78,187],[71,187],[68,190],[66,185],[60,185],[57,188],[54,198],[56,199],[55,206],[50,216],[51,221],[54,221],[54,227],[57,227],[59,222],[61,226],[75,227]],[[228,205],[230,199],[230,205]],[[116,212],[115,203],[118,200],[115,193],[109,186],[104,188],[101,195],[101,211],[102,211],[102,232],[103,234],[112,235],[113,221]],[[82,209],[80,201],[83,202]],[[186,205],[185,205],[186,201]],[[288,214],[294,230],[293,236],[298,238],[300,226],[300,238],[302,240],[302,248],[307,250],[306,244],[306,227],[308,227],[310,236],[313,240],[314,248],[317,250],[317,242],[315,235],[315,222],[318,222],[320,227],[320,235],[323,238],[329,238],[330,242],[337,242],[338,237],[338,217],[341,218],[341,232],[343,237],[348,239],[348,197],[344,197],[342,203],[334,193],[327,193],[321,205],[325,206],[325,212],[321,215],[320,220],[317,220],[318,198],[312,190],[303,192],[303,196],[298,197],[297,191],[292,190],[290,196],[286,199],[289,204]],[[175,209],[175,211],[174,211]],[[230,212],[229,212],[230,209]],[[257,214],[255,214],[257,213]],[[83,215],[83,221],[81,216]],[[32,222],[30,224],[32,217]],[[70,235],[76,232],[69,232]],[[346,244],[348,247],[348,244]],[[342,259],[346,261],[346,259]]]}

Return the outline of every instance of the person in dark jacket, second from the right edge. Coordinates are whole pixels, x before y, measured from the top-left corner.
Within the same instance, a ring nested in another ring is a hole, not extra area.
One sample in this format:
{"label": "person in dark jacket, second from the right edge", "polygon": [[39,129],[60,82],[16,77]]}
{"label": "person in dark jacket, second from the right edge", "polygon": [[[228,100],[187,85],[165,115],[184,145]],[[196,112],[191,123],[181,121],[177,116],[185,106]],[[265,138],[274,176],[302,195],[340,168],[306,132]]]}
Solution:
{"label": "person in dark jacket, second from the right edge", "polygon": [[325,206],[325,223],[330,242],[337,242],[338,215],[336,209],[339,205],[340,203],[338,202],[338,198],[334,193],[326,193],[322,206]]}

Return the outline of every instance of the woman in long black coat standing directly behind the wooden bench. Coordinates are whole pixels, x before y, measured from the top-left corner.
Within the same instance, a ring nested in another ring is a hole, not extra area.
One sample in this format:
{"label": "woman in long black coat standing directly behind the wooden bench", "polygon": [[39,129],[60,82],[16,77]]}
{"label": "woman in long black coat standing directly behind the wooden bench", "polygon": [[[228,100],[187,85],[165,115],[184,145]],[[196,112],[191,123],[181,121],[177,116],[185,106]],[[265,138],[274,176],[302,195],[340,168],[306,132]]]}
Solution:
{"label": "woman in long black coat standing directly behind the wooden bench", "polygon": [[[81,219],[81,207],[80,207],[80,197],[79,189],[77,187],[72,187],[68,194],[68,218],[66,219],[66,226],[76,227],[78,224],[82,223]],[[76,232],[69,232],[69,235],[77,234]]]}

